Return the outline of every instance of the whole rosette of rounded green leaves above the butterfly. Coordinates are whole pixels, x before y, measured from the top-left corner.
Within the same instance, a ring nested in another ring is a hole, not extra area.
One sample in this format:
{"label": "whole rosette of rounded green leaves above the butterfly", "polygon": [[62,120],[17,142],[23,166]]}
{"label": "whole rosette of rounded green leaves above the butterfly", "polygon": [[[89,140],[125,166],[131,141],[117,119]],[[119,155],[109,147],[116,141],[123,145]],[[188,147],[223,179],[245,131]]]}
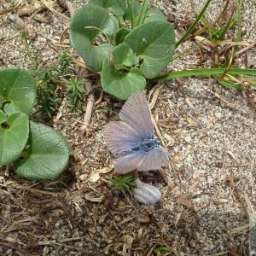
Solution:
{"label": "whole rosette of rounded green leaves above the butterfly", "polygon": [[92,0],[74,15],[70,41],[102,88],[126,100],[172,61],[175,33],[148,1]]}

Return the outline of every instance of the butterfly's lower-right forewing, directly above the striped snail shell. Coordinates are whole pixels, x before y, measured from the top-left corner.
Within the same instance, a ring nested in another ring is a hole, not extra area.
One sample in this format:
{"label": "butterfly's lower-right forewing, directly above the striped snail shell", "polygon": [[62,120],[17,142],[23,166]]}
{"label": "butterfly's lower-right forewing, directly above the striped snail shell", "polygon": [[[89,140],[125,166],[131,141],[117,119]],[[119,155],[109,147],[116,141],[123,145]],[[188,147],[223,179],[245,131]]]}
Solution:
{"label": "butterfly's lower-right forewing, directly above the striped snail shell", "polygon": [[138,166],[138,171],[150,171],[150,170],[160,170],[161,166],[169,165],[169,157],[166,150],[160,146],[152,148],[145,155],[140,165]]}

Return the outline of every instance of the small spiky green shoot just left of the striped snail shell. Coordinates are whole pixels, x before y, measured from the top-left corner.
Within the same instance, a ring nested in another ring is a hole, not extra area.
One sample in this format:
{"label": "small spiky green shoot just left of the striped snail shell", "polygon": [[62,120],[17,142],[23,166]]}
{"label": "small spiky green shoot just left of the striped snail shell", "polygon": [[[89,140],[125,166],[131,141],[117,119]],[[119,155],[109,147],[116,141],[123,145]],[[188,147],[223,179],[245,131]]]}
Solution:
{"label": "small spiky green shoot just left of the striped snail shell", "polygon": [[132,187],[136,186],[136,177],[132,174],[125,174],[119,177],[113,177],[113,188],[111,190],[119,190],[125,195]]}

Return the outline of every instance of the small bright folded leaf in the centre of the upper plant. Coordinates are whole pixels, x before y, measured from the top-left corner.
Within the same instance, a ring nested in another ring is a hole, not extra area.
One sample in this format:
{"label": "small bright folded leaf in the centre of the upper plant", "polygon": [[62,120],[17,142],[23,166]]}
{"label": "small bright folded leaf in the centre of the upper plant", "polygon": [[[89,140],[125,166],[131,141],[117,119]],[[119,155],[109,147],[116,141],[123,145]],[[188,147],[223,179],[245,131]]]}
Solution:
{"label": "small bright folded leaf in the centre of the upper plant", "polygon": [[113,49],[113,64],[116,68],[132,67],[138,63],[137,56],[127,44],[119,44]]}

